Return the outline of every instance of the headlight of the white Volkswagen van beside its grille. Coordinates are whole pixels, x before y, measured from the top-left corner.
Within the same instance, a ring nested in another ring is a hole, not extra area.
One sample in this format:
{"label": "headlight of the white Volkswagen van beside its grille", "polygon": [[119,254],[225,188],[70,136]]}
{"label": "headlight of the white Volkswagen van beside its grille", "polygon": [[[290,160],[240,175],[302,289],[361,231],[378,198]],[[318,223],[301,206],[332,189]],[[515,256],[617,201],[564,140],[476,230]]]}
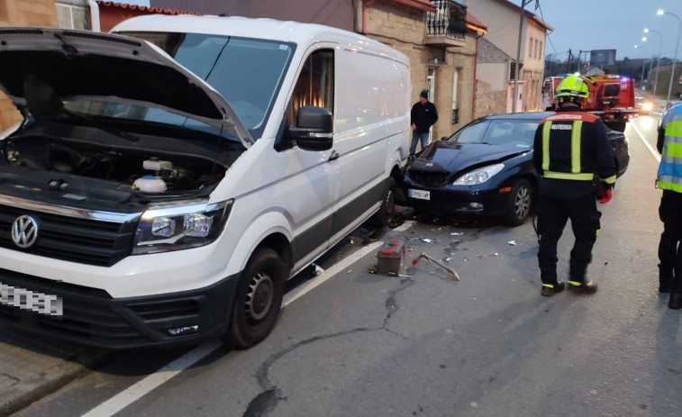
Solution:
{"label": "headlight of the white Volkswagen van beside its grille", "polygon": [[233,200],[207,204],[183,201],[151,205],[135,231],[133,255],[205,246],[218,238]]}

